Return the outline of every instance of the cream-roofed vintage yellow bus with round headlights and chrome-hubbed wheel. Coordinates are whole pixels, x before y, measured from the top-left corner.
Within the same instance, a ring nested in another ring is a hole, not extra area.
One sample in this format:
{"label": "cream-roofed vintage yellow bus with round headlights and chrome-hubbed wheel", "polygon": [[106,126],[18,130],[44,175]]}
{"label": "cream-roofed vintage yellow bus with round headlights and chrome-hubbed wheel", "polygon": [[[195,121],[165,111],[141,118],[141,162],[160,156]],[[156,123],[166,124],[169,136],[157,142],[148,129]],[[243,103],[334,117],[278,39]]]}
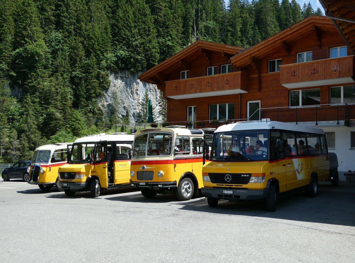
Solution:
{"label": "cream-roofed vintage yellow bus with round headlights and chrome-hubbed wheel", "polygon": [[[131,186],[153,198],[175,193],[179,200],[198,195],[202,184],[204,134],[214,129],[149,128],[136,132]],[[211,141],[212,142],[212,141]]]}

